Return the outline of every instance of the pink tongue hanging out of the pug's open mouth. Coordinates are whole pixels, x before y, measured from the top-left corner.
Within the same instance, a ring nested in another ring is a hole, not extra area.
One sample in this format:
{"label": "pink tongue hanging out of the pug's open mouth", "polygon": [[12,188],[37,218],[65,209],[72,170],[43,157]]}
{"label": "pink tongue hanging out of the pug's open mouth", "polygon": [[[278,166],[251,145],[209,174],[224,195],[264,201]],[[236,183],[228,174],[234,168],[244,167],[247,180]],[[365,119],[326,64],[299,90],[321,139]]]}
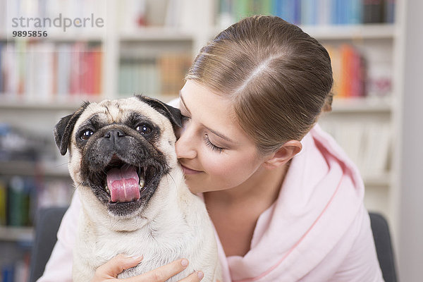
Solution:
{"label": "pink tongue hanging out of the pug's open mouth", "polygon": [[140,199],[140,178],[135,167],[112,168],[107,172],[107,186],[111,202],[130,202]]}

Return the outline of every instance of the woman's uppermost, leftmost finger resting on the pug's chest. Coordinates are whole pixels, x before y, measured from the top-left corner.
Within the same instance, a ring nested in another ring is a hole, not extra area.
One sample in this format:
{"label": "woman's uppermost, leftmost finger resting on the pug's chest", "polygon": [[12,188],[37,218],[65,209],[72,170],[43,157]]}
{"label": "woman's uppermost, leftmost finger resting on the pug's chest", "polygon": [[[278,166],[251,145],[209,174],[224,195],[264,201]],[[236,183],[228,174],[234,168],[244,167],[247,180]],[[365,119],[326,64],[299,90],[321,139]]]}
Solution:
{"label": "woman's uppermost, leftmost finger resting on the pug's chest", "polygon": [[[99,266],[95,271],[94,278],[116,278],[125,269],[130,269],[142,261],[142,257],[128,257],[126,255],[117,255],[109,262]],[[94,280],[97,281],[97,280]],[[94,282],[92,281],[92,282]],[[100,280],[98,280],[100,281]]]}

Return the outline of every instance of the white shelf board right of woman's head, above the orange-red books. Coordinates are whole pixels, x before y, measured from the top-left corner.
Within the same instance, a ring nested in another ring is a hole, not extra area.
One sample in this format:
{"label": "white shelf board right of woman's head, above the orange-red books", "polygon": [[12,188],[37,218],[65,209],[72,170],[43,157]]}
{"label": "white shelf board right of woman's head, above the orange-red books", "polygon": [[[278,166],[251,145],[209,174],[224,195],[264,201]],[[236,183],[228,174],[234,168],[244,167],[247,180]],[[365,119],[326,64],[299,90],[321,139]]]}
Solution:
{"label": "white shelf board right of woman's head, above the orange-red books", "polygon": [[396,36],[396,28],[392,24],[306,25],[301,28],[318,40],[393,39]]}

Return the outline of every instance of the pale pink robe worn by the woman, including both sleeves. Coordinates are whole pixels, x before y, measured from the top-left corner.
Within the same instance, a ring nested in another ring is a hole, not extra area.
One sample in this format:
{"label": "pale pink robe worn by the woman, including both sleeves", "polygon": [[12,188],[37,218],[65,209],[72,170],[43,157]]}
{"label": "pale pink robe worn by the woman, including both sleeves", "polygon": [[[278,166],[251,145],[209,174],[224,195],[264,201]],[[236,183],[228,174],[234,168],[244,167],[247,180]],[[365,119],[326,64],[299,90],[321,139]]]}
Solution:
{"label": "pale pink robe worn by the woman, including both sleeves", "polygon": [[[226,257],[218,238],[222,282],[384,281],[357,167],[319,125],[301,142],[278,199],[259,216],[250,251]],[[39,281],[71,281],[79,212],[75,193]]]}

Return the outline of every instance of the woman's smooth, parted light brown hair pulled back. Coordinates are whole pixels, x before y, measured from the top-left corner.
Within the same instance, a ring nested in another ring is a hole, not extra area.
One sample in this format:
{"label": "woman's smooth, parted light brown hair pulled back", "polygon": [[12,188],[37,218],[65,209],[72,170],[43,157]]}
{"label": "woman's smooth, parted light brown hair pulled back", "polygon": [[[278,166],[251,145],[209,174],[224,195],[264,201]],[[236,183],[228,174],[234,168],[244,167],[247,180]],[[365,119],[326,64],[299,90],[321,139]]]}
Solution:
{"label": "woman's smooth, parted light brown hair pulled back", "polygon": [[331,59],[316,39],[274,16],[231,25],[204,46],[186,80],[233,102],[260,154],[301,140],[322,109],[331,110]]}

